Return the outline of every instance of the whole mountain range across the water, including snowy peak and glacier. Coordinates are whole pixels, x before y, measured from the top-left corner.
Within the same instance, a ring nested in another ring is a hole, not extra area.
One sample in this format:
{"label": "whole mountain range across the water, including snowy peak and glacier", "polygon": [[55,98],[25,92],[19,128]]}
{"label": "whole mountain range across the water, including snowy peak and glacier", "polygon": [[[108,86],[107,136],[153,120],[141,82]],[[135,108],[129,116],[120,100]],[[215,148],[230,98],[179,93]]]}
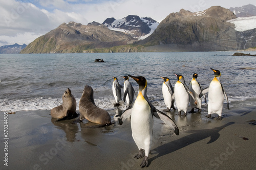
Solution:
{"label": "whole mountain range across the water, including snowy peak and glacier", "polygon": [[94,21],[87,26],[62,23],[20,53],[245,50],[256,47],[255,19],[237,18],[229,9],[214,6],[194,13],[181,9],[159,24],[136,15],[107,18],[103,23]]}

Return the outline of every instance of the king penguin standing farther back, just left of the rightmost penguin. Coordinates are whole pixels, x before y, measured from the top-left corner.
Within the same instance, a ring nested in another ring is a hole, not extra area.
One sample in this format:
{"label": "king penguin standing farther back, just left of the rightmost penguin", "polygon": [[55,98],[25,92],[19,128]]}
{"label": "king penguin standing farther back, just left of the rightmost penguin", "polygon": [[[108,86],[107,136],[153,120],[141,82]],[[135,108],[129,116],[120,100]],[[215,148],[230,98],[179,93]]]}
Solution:
{"label": "king penguin standing farther back, just left of the rightmost penguin", "polygon": [[[193,92],[194,98],[197,100],[197,105],[195,105],[195,101],[189,95],[189,103],[191,107],[190,113],[194,113],[194,108],[198,109],[198,112],[201,113],[202,99],[199,98],[200,92],[203,90],[201,84],[197,81],[198,74],[194,73],[192,76],[192,80],[188,84],[188,88],[191,92]],[[204,95],[204,101],[206,104],[206,98]]]}

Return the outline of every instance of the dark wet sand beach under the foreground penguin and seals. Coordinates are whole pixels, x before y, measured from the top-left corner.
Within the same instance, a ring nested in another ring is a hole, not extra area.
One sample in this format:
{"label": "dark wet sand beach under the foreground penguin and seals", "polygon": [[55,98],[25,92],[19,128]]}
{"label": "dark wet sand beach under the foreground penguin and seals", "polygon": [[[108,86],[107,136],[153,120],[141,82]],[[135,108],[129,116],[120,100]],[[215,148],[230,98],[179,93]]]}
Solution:
{"label": "dark wet sand beach under the foreground penguin and seals", "polygon": [[[145,169],[254,169],[256,126],[250,123],[256,119],[256,107],[232,103],[230,109],[224,109],[222,120],[206,118],[206,105],[202,114],[187,117],[168,112],[179,136],[155,118]],[[108,111],[114,120],[118,110]],[[133,158],[138,149],[130,120],[122,126],[90,129],[86,126],[94,124],[71,124],[73,120],[55,123],[50,110],[9,114],[8,166],[3,163],[1,142],[1,169],[141,169],[142,159]]]}

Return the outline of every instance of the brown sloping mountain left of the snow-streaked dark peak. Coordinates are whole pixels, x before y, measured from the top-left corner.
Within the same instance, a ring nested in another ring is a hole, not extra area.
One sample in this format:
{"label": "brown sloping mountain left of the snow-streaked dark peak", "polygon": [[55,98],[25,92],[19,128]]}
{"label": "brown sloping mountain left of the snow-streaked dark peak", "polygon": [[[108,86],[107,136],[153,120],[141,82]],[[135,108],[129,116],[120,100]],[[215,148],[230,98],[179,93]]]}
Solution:
{"label": "brown sloping mountain left of the snow-streaked dark peak", "polygon": [[82,53],[84,49],[131,44],[135,39],[98,23],[62,23],[31,42],[20,53]]}

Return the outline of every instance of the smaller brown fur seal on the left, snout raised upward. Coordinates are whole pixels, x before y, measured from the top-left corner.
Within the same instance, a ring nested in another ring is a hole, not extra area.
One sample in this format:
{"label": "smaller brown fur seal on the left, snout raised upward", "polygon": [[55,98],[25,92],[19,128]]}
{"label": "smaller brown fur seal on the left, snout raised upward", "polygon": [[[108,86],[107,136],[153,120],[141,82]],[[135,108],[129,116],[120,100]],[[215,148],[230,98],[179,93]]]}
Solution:
{"label": "smaller brown fur seal on the left, snout raised upward", "polygon": [[51,116],[58,118],[56,121],[77,117],[76,99],[69,88],[63,93],[62,101],[63,103],[60,106],[51,109]]}

